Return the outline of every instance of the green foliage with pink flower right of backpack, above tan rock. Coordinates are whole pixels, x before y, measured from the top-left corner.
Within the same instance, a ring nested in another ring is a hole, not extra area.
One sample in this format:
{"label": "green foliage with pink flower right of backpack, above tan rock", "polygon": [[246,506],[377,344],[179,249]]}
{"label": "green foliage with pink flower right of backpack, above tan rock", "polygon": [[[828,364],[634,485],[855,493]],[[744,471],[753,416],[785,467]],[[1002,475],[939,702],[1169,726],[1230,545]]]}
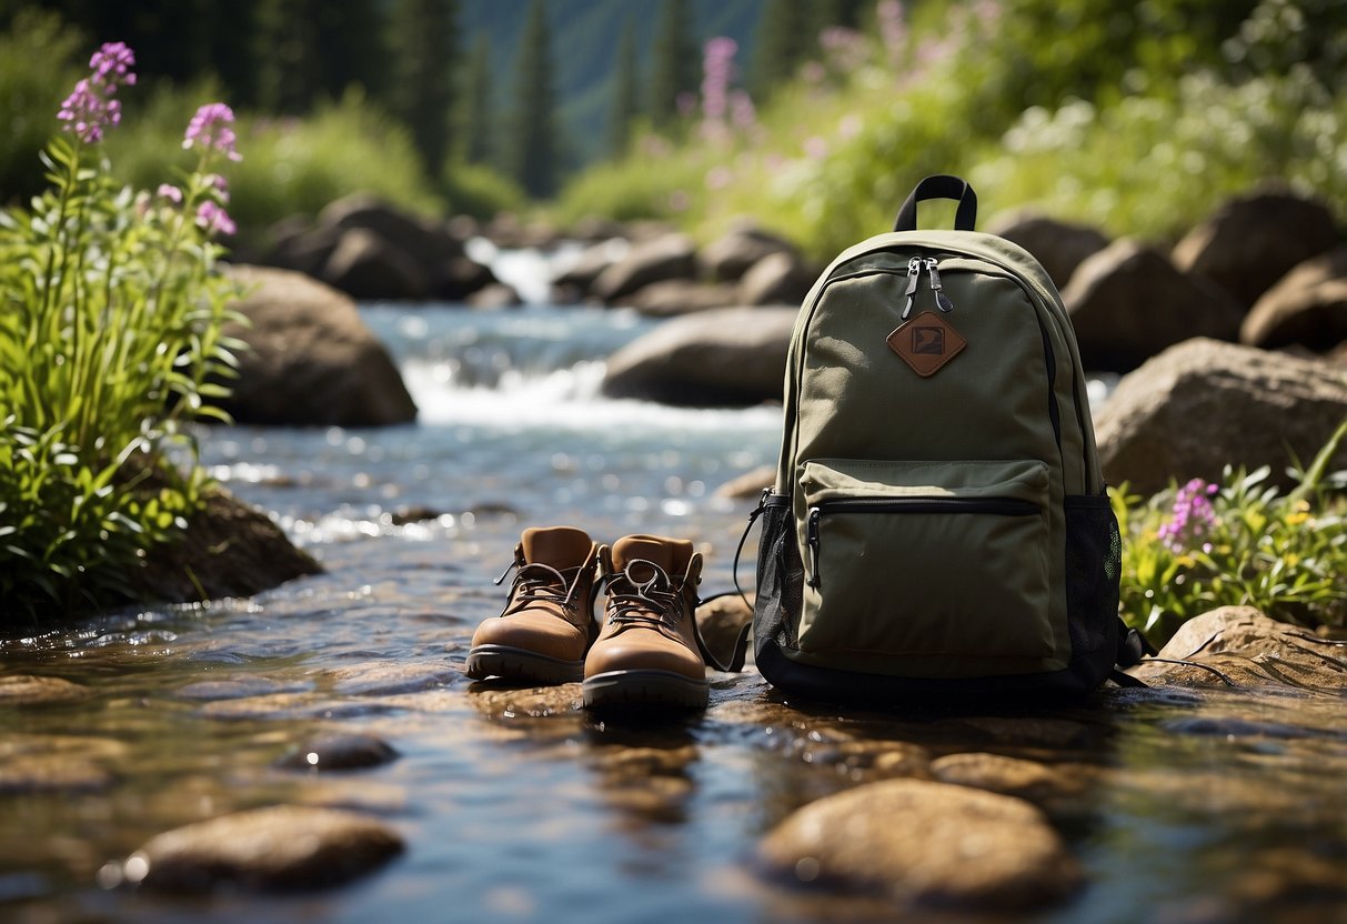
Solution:
{"label": "green foliage with pink flower right of backpack, above tan rock", "polygon": [[1289,493],[1268,485],[1266,467],[1227,467],[1210,520],[1189,520],[1179,535],[1183,489],[1149,500],[1129,496],[1126,485],[1110,489],[1127,625],[1158,647],[1185,620],[1249,605],[1286,622],[1347,628],[1347,471],[1325,471],[1344,438],[1347,422]]}

